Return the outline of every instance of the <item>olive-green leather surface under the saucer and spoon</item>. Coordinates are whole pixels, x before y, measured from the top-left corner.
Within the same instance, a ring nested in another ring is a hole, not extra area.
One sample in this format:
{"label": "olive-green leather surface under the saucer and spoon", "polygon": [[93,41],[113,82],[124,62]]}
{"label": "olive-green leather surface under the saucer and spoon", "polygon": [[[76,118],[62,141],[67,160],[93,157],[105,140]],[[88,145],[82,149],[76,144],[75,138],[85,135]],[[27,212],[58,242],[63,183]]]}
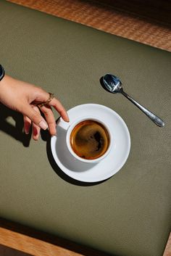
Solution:
{"label": "olive-green leather surface under the saucer and spoon", "polygon": [[[112,255],[161,256],[170,233],[171,54],[0,1],[0,59],[9,75],[54,92],[67,110],[112,108],[131,136],[122,170],[83,186],[54,165],[46,133],[29,141],[22,116],[1,106],[0,217]],[[119,76],[165,127],[104,91],[105,73]]]}

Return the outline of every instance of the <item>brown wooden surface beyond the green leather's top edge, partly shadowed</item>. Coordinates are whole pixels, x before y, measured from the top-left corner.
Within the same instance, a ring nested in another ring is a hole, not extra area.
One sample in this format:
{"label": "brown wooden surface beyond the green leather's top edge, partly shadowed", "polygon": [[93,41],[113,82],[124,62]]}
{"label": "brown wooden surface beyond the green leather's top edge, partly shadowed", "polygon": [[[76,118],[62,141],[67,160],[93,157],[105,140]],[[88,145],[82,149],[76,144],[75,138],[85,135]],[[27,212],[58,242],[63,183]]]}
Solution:
{"label": "brown wooden surface beyond the green leather's top edge, partly shadowed", "polygon": [[171,51],[171,1],[10,1]]}

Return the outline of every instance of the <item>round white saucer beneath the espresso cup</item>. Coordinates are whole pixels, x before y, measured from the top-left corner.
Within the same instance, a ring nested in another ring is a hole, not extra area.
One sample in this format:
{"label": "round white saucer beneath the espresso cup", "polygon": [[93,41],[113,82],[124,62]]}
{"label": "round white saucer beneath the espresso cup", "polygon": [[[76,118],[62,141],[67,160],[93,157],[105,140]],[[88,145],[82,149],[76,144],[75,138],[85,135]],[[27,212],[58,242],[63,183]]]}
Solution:
{"label": "round white saucer beneath the espresso cup", "polygon": [[57,122],[57,136],[51,137],[51,152],[59,168],[78,181],[104,181],[117,173],[128,159],[130,152],[130,133],[122,117],[114,110],[99,104],[82,104],[67,111],[70,122],[78,117],[94,115],[103,117],[104,123],[111,128],[113,146],[104,160],[96,164],[76,160],[67,149],[66,133],[70,123],[60,117]]}

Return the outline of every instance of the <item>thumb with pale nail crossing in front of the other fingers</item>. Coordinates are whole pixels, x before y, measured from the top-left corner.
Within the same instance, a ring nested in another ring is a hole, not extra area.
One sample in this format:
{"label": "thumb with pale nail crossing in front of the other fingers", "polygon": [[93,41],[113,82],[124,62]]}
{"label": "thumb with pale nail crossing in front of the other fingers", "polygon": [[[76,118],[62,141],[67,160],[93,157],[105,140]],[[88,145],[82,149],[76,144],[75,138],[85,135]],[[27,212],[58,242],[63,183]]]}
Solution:
{"label": "thumb with pale nail crossing in front of the other fingers", "polygon": [[48,124],[46,123],[46,120],[41,116],[41,113],[36,110],[34,110],[33,107],[31,107],[29,104],[25,105],[24,109],[21,111],[22,115],[26,115],[32,120],[33,123],[38,125],[43,130],[46,130],[48,128]]}

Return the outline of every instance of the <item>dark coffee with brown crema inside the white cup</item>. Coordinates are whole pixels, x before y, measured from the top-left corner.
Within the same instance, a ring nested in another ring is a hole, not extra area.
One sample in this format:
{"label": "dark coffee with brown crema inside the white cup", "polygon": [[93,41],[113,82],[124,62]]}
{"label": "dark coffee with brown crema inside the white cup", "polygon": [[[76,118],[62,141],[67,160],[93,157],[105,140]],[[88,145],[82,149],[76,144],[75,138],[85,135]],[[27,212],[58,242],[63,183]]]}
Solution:
{"label": "dark coffee with brown crema inside the white cup", "polygon": [[107,128],[95,120],[84,120],[73,128],[70,145],[78,157],[93,160],[101,157],[109,147]]}

